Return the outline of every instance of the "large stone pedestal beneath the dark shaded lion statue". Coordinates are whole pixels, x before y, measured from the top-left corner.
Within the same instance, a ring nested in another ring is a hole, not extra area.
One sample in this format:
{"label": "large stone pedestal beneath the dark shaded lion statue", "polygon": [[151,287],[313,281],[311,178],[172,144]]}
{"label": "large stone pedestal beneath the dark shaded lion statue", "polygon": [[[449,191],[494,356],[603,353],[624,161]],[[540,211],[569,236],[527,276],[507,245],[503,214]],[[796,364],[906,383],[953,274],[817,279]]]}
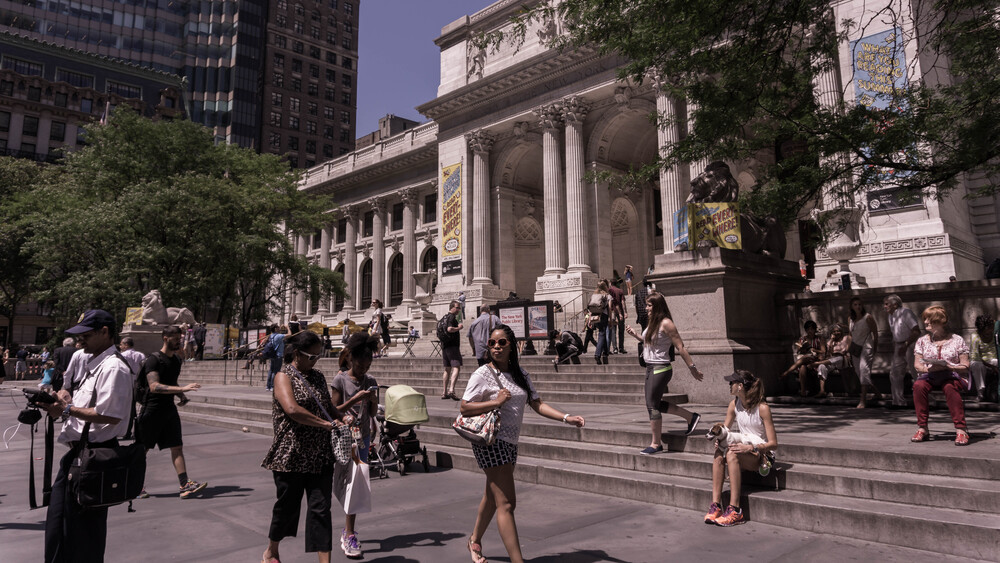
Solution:
{"label": "large stone pedestal beneath the dark shaded lion statue", "polygon": [[802,288],[798,264],[737,250],[707,248],[662,254],[649,279],[663,293],[674,324],[698,368],[691,377],[680,356],[670,381],[693,403],[725,404],[723,378],[736,369],[761,377],[768,393],[791,361],[795,320],[784,303]]}

